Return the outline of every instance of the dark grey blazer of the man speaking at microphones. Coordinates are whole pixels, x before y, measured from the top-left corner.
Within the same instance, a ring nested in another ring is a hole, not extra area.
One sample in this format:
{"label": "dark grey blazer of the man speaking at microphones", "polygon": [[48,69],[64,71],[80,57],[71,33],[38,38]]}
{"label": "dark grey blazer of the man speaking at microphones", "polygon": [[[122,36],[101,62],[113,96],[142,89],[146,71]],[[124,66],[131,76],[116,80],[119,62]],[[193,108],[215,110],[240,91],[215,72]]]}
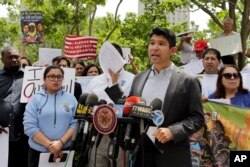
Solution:
{"label": "dark grey blazer of the man speaking at microphones", "polygon": [[[130,95],[142,95],[150,71],[151,69],[142,72],[134,78]],[[152,87],[152,89],[160,88]],[[164,150],[162,155],[158,151],[147,150],[150,145],[148,143],[152,142],[147,141],[149,139],[146,137],[143,166],[191,167],[188,137],[204,125],[199,81],[178,71],[178,69],[174,69],[166,91],[162,112],[165,120],[161,127],[168,127],[173,133],[174,139],[165,144],[156,140],[156,145]],[[147,155],[149,156],[147,157]],[[140,160],[137,159],[136,161],[137,165],[135,166],[142,167],[142,164],[138,163]]]}

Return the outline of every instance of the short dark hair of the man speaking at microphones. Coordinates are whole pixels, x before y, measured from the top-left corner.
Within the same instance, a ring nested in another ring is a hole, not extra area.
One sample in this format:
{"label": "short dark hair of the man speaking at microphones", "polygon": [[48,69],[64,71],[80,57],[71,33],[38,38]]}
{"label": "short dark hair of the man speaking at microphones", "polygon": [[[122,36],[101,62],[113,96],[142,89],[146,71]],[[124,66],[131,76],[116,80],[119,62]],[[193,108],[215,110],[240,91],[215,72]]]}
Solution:
{"label": "short dark hair of the man speaking at microphones", "polygon": [[150,38],[153,35],[163,35],[168,40],[170,48],[176,46],[176,36],[171,30],[167,28],[156,27],[150,33]]}

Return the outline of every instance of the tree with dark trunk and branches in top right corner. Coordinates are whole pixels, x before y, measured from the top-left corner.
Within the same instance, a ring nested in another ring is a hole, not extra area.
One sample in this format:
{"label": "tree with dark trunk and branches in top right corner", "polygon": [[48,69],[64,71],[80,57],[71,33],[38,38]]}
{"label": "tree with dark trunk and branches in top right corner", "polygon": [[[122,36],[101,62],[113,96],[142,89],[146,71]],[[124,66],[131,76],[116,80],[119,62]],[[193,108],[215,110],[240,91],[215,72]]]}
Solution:
{"label": "tree with dark trunk and branches in top right corner", "polygon": [[[245,51],[247,49],[247,39],[250,33],[250,1],[249,0],[190,0],[193,5],[206,12],[214,23],[221,29],[223,28],[222,20],[218,17],[220,11],[224,11],[224,16],[228,15],[234,20],[235,30],[239,29],[243,52],[239,54],[238,66],[245,66]],[[240,23],[239,26],[237,23]]]}

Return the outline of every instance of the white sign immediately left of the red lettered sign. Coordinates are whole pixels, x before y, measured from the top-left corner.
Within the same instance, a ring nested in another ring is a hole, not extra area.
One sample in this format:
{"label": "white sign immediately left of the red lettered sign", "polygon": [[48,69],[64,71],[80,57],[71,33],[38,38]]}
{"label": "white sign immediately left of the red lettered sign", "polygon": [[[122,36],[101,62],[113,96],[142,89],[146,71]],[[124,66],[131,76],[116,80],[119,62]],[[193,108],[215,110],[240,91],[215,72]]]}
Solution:
{"label": "white sign immediately left of the red lettered sign", "polygon": [[62,55],[61,49],[52,49],[52,48],[39,48],[39,60],[38,65],[52,65],[53,58]]}

